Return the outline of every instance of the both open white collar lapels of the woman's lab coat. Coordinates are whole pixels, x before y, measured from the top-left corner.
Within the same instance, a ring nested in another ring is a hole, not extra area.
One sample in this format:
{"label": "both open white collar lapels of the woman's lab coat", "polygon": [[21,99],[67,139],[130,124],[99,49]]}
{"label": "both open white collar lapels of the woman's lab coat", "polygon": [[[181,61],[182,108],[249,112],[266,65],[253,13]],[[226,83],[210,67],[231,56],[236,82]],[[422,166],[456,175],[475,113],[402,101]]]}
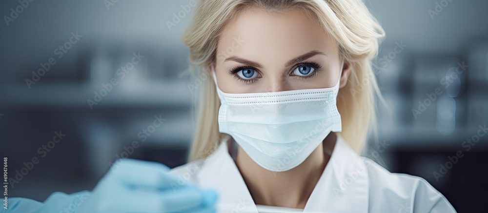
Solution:
{"label": "both open white collar lapels of the woman's lab coat", "polygon": [[[225,136],[208,156],[198,174],[199,185],[220,193],[218,209],[227,212],[257,213],[244,179],[231,155]],[[332,155],[305,204],[304,213],[368,212],[369,180],[366,163],[337,136]]]}

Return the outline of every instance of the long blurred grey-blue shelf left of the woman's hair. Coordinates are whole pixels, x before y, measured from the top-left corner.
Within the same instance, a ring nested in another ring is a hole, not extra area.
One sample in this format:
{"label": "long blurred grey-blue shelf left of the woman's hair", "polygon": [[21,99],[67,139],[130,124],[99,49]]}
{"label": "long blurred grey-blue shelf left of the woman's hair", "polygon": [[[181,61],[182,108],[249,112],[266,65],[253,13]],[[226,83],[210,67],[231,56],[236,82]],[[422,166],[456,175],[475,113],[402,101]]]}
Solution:
{"label": "long blurred grey-blue shelf left of the woman's hair", "polygon": [[[97,104],[96,108],[159,107],[191,104],[187,83],[178,80],[139,83],[138,86],[115,85]],[[81,107],[90,109],[88,99],[100,94],[102,84],[25,84],[0,85],[0,107]],[[103,94],[103,92],[102,92]]]}

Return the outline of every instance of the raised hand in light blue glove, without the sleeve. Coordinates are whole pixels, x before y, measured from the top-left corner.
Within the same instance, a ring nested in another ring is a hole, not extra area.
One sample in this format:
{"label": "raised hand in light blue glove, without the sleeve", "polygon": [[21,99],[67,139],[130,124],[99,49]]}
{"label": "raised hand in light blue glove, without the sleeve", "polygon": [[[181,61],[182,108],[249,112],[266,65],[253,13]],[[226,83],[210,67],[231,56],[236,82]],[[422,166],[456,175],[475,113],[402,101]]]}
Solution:
{"label": "raised hand in light blue glove, without the sleeve", "polygon": [[119,160],[76,213],[214,213],[217,193],[180,185],[163,164]]}

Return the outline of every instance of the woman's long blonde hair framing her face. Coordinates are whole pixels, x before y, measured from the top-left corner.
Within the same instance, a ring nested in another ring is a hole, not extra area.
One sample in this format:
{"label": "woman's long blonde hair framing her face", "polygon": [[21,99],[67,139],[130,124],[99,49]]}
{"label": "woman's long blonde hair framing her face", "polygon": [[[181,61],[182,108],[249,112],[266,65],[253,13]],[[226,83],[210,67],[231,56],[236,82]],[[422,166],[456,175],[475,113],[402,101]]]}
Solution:
{"label": "woman's long blonde hair framing her face", "polygon": [[[361,153],[370,127],[376,126],[375,94],[381,97],[371,59],[378,54],[385,32],[362,0],[201,0],[183,35],[190,48],[189,72],[201,80],[195,137],[189,160],[210,155],[224,134],[219,133],[220,100],[208,68],[225,25],[246,9],[266,11],[302,9],[338,44],[339,54],[351,64],[346,86],[339,91],[337,107],[347,143]],[[198,85],[193,85],[198,86]]]}

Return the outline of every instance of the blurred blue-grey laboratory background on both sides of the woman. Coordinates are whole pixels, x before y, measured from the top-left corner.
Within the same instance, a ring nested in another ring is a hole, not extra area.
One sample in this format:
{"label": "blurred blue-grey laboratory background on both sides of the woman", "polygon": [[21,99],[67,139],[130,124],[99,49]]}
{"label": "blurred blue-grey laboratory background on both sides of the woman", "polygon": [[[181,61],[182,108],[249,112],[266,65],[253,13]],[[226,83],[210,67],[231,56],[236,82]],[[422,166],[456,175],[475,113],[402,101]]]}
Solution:
{"label": "blurred blue-grey laboratory background on both sides of the woman", "polygon": [[[188,85],[199,85],[182,75],[189,3],[0,2],[8,17],[0,24],[0,155],[10,177],[19,171],[11,197],[91,190],[121,155],[185,163],[196,92]],[[364,155],[425,178],[458,212],[484,212],[488,1],[366,5],[386,31],[373,67],[389,111],[378,107],[379,134]],[[131,149],[133,141],[140,146]]]}

